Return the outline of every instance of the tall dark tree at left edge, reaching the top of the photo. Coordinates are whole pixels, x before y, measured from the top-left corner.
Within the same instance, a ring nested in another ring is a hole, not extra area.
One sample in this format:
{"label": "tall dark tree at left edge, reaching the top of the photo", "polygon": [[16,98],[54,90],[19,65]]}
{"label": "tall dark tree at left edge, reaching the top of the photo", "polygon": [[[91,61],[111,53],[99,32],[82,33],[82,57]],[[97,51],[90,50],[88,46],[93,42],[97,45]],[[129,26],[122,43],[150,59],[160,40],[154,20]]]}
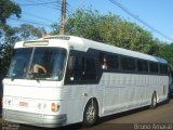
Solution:
{"label": "tall dark tree at left edge, reaching the top of the photo", "polygon": [[12,52],[11,42],[15,39],[13,37],[15,30],[6,25],[6,20],[12,15],[19,18],[21,13],[19,5],[12,0],[0,0],[0,74],[5,74],[10,61],[9,54]]}

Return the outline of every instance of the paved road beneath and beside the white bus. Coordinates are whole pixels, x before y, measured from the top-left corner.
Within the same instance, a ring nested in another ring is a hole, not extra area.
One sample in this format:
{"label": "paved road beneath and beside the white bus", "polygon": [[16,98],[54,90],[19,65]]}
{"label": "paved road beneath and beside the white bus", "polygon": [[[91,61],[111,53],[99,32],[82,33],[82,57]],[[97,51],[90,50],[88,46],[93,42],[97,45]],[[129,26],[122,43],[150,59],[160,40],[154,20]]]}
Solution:
{"label": "paved road beneath and beside the white bus", "polygon": [[[29,126],[2,122],[2,130],[15,128],[15,130],[42,130]],[[58,128],[59,130],[173,130],[173,100],[169,103],[159,105],[156,109],[148,107],[134,109],[123,114],[104,117],[99,122],[91,128],[82,128],[80,123]],[[14,130],[14,129],[13,129]],[[57,130],[52,129],[52,130]]]}

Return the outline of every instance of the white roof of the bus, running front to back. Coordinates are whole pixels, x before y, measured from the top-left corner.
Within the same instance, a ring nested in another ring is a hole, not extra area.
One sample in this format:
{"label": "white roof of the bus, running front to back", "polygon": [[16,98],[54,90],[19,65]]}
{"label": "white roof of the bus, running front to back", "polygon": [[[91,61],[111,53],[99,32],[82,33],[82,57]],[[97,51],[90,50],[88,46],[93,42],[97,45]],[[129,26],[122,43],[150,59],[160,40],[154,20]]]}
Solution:
{"label": "white roof of the bus, running front to back", "polygon": [[168,64],[168,62],[164,58],[161,58],[158,56],[152,56],[152,55],[144,54],[141,52],[131,51],[131,50],[118,48],[115,46],[89,40],[85,38],[76,37],[76,36],[48,36],[45,38],[41,38],[35,41],[42,41],[42,40],[49,40],[49,41],[54,41],[54,42],[56,41],[56,43],[57,41],[59,41],[59,42],[63,42],[62,46],[66,43],[65,47],[68,46],[69,49],[84,51],[84,52],[86,52],[89,49],[95,49],[95,50],[101,50],[105,52],[111,52],[116,54],[121,54],[121,55],[132,56],[136,58]]}

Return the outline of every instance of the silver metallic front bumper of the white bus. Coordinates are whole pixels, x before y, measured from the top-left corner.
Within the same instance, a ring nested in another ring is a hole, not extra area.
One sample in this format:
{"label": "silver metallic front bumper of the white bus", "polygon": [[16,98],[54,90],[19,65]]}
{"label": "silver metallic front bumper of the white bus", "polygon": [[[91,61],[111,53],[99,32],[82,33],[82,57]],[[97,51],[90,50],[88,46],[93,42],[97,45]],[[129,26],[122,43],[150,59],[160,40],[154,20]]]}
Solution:
{"label": "silver metallic front bumper of the white bus", "polygon": [[44,114],[34,114],[26,112],[17,112],[11,109],[2,109],[2,118],[6,121],[12,121],[16,123],[25,123],[29,126],[37,127],[61,127],[67,120],[67,115],[44,115]]}

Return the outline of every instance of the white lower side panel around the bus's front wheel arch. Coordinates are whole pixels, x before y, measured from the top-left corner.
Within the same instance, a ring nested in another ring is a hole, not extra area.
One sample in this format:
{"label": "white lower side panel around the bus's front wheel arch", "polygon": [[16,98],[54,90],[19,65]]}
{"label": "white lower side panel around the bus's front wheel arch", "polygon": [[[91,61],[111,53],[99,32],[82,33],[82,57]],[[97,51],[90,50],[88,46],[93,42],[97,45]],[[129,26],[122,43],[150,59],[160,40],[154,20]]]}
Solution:
{"label": "white lower side panel around the bus's front wheel arch", "polygon": [[[83,120],[83,113],[90,99],[95,98],[102,107],[103,87],[97,84],[68,84],[63,90],[63,113],[67,114],[67,123]],[[101,115],[101,110],[98,116]]]}

